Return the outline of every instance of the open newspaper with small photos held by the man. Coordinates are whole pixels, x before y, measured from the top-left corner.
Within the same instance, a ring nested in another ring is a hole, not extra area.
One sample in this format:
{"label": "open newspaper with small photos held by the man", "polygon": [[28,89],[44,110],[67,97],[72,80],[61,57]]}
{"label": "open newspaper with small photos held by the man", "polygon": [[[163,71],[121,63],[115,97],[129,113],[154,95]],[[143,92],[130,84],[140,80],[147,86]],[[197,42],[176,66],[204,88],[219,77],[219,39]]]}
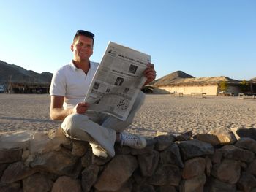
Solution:
{"label": "open newspaper with small photos held by the man", "polygon": [[150,55],[109,42],[84,99],[89,110],[126,120],[140,89]]}

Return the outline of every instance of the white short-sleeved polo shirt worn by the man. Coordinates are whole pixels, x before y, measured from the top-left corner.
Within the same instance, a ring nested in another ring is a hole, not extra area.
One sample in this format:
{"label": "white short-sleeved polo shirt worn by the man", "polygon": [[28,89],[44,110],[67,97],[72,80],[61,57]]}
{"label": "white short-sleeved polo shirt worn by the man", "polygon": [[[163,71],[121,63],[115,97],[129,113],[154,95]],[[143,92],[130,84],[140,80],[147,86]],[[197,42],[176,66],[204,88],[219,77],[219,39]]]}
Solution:
{"label": "white short-sleeved polo shirt worn by the man", "polygon": [[75,107],[79,102],[83,102],[98,65],[99,63],[90,61],[87,75],[82,69],[78,69],[72,61],[62,66],[53,74],[50,96],[64,96],[64,109]]}

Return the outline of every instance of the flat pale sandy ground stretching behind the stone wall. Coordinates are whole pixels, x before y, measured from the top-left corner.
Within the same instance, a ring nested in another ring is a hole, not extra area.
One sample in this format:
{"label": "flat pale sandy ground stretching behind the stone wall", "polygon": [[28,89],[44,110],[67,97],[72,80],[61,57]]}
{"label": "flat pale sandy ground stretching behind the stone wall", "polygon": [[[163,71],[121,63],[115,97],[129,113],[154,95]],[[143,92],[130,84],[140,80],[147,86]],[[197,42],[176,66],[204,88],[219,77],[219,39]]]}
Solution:
{"label": "flat pale sandy ground stretching behind the stone wall", "polygon": [[[0,135],[17,131],[49,131],[60,121],[49,118],[50,96],[0,94]],[[154,137],[158,131],[181,134],[208,133],[216,128],[256,128],[256,100],[237,97],[146,95],[146,100],[127,129]]]}

